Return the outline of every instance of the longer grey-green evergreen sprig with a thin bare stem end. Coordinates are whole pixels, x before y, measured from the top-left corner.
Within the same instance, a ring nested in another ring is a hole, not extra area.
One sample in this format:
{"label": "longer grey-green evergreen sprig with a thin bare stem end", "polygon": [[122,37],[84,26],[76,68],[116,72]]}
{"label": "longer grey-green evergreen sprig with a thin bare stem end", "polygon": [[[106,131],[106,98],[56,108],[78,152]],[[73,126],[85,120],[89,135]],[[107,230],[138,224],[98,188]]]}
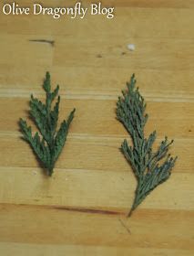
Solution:
{"label": "longer grey-green evergreen sprig with a thin bare stem end", "polygon": [[124,140],[121,151],[138,180],[135,199],[128,216],[155,187],[168,179],[177,160],[177,157],[173,158],[168,154],[169,145],[173,141],[168,142],[165,137],[154,152],[152,146],[156,140],[156,131],[145,138],[144,128],[148,121],[146,103],[135,85],[133,74],[127,83],[128,90],[122,91],[123,97],[119,97],[117,101],[117,119],[127,129],[133,144],[128,145],[127,140]]}

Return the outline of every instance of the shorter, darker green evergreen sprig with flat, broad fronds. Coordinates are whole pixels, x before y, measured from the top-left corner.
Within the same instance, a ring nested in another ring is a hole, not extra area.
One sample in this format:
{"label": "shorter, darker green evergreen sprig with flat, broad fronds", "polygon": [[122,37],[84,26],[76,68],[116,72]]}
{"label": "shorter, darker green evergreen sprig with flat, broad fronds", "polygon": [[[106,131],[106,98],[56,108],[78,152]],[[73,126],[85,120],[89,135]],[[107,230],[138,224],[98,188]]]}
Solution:
{"label": "shorter, darker green evergreen sprig with flat, broad fronds", "polygon": [[52,103],[58,94],[59,86],[57,85],[56,89],[53,92],[51,91],[49,72],[46,72],[43,88],[46,91],[46,103],[38,101],[33,95],[31,95],[30,100],[30,116],[36,123],[39,133],[33,135],[31,127],[27,126],[23,119],[20,119],[19,125],[24,139],[30,144],[37,158],[47,169],[48,175],[52,176],[54,165],[66,143],[69,125],[76,110],[70,112],[67,121],[61,123],[60,128],[56,131],[60,96],[57,97],[53,109]]}

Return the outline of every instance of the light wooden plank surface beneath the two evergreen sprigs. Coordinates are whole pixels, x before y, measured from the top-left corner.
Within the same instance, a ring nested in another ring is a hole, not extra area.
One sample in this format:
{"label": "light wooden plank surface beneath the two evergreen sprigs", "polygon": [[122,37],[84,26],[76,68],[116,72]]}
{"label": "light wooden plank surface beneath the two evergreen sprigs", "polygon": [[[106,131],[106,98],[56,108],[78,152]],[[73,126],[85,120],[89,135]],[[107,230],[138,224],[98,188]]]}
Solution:
{"label": "light wooden plank surface beneath the two evergreen sprigs", "polygon": [[[194,1],[103,3],[116,7],[114,19],[0,14],[2,256],[194,255]],[[31,93],[44,99],[46,70],[60,85],[60,120],[77,108],[51,178],[17,123]],[[128,133],[115,108],[133,72],[148,101],[147,133],[174,138],[179,161],[127,219],[137,182],[118,150]]]}

